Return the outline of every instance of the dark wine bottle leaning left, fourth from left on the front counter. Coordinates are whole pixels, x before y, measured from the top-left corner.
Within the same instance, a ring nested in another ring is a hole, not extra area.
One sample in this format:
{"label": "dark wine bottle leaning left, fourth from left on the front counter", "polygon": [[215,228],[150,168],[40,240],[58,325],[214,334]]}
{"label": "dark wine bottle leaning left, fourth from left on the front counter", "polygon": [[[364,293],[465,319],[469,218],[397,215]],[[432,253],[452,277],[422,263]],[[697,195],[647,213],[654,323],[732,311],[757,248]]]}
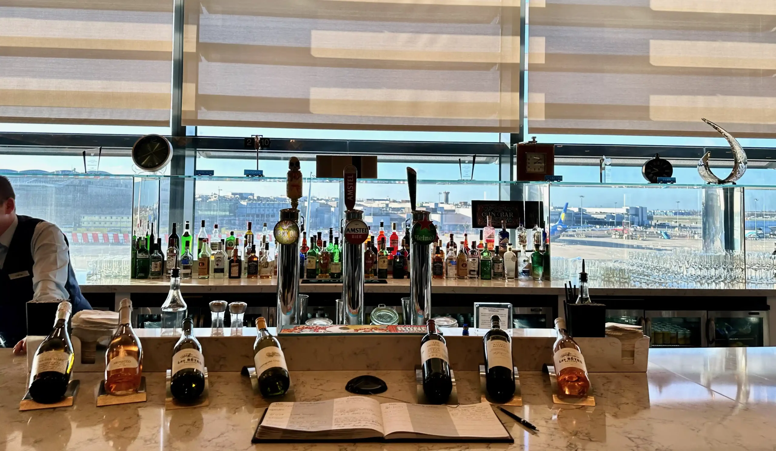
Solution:
{"label": "dark wine bottle leaning left, fourth from left on the front counter", "polygon": [[258,375],[258,390],[262,392],[262,396],[286,394],[291,384],[286,357],[283,356],[278,339],[267,330],[267,321],[264,317],[256,318],[253,361]]}

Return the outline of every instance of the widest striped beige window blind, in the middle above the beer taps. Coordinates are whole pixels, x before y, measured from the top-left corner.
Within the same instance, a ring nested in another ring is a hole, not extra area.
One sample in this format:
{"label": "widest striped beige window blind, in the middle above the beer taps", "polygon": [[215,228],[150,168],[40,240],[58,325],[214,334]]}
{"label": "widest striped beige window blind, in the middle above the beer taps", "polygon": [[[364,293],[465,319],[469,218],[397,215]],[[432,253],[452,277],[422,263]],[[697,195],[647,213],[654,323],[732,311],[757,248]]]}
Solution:
{"label": "widest striped beige window blind, in the middle above the beer taps", "polygon": [[519,0],[185,4],[185,125],[518,130]]}

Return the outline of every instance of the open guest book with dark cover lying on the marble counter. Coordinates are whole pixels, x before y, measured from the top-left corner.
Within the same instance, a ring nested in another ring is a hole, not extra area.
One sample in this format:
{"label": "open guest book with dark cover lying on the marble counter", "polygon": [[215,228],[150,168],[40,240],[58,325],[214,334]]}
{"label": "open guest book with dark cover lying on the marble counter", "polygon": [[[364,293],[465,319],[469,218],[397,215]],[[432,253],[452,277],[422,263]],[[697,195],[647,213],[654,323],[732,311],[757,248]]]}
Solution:
{"label": "open guest book with dark cover lying on the marble counter", "polygon": [[380,404],[369,397],[275,402],[252,442],[514,442],[488,403]]}

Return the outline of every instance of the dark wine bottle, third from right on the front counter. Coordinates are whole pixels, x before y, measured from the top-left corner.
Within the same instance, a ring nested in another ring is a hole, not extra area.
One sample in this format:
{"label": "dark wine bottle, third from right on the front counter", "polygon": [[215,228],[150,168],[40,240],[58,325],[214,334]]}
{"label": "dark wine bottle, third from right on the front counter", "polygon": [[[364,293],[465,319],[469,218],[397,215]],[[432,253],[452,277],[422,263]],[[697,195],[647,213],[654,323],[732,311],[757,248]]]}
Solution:
{"label": "dark wine bottle, third from right on the front counter", "polygon": [[447,345],[445,338],[437,333],[434,320],[428,320],[426,326],[428,333],[421,340],[423,393],[431,403],[443,404],[452,392]]}

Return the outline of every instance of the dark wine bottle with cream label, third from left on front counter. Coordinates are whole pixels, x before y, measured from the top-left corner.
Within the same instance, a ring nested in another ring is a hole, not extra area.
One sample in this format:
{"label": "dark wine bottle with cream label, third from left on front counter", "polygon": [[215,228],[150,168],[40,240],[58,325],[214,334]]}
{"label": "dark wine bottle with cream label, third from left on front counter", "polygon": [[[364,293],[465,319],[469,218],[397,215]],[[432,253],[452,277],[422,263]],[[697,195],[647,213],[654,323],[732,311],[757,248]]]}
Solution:
{"label": "dark wine bottle with cream label, third from left on front counter", "polygon": [[172,349],[170,391],[178,401],[192,402],[205,390],[205,358],[202,346],[194,337],[191,317],[183,320],[181,338]]}

